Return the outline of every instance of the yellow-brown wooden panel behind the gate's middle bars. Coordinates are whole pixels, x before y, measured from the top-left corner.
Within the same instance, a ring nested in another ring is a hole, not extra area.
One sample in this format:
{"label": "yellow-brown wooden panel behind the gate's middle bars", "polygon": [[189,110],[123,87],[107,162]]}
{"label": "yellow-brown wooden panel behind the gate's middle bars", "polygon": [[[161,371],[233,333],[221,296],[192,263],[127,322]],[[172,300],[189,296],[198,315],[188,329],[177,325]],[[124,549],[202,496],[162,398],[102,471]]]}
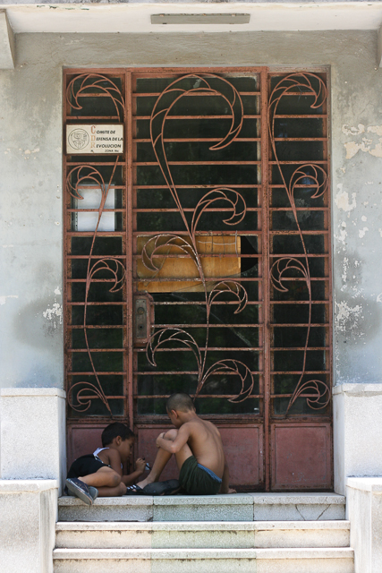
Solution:
{"label": "yellow-brown wooden panel behind the gate's middle bars", "polygon": [[[157,270],[148,269],[142,259],[137,261],[137,274],[139,278],[150,278],[138,283],[139,291],[148,293],[173,293],[176,291],[197,292],[202,291],[200,282],[190,280],[199,278],[199,270],[195,261],[191,258],[191,239],[171,238],[168,244],[168,236],[155,243],[149,236],[138,237],[137,247],[141,254],[145,245],[147,255],[144,257],[146,265],[155,265]],[[164,244],[166,243],[166,244]],[[190,245],[190,246],[189,246]],[[200,256],[201,267],[204,276],[208,278],[237,277],[241,272],[241,243],[237,235],[199,235],[196,237],[196,246]],[[149,257],[153,254],[153,259]],[[208,257],[206,255],[214,255]],[[228,256],[226,256],[228,255]],[[234,255],[234,256],[233,256]],[[160,278],[176,278],[178,280],[152,280]],[[185,278],[189,280],[184,280]],[[216,281],[208,283],[208,291],[213,288]]]}

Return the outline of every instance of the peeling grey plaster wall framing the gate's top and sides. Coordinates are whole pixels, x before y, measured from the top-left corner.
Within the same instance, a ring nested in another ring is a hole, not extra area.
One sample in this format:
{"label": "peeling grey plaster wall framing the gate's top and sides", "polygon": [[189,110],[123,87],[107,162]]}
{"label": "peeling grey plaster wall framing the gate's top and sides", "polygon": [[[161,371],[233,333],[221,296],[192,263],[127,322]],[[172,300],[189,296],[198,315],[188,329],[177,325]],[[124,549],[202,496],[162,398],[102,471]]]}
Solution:
{"label": "peeling grey plaster wall framing the gate's top and sides", "polygon": [[62,68],[330,65],[335,382],[381,380],[377,32],[18,34],[0,71],[0,385],[63,386]]}

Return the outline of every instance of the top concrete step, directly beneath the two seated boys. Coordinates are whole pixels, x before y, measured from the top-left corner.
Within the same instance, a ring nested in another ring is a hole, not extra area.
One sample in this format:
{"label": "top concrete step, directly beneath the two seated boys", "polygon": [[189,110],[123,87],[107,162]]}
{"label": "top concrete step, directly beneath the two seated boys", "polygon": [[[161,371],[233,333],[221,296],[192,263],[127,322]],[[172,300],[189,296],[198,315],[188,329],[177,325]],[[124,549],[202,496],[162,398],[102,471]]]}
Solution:
{"label": "top concrete step, directly beneath the two seated boys", "polygon": [[60,521],[327,521],[344,519],[345,498],[336,493],[235,493],[98,498],[58,501]]}

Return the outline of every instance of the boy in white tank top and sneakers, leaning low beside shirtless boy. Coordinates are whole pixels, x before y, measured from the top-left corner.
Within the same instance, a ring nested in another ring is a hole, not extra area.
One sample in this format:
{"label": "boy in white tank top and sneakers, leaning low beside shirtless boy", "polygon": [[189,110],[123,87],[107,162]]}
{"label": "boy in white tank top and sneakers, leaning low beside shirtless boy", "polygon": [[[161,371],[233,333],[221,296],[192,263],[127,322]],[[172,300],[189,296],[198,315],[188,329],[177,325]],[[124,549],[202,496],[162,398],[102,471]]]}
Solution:
{"label": "boy in white tank top and sneakers, leaning low beside shirtless boy", "polygon": [[92,505],[98,495],[124,495],[126,486],[136,482],[146,468],[145,460],[139,458],[135,472],[123,475],[123,464],[130,457],[134,443],[133,432],[123,423],[106,426],[101,440],[102,448],[74,460],[66,478],[65,489],[88,505]]}

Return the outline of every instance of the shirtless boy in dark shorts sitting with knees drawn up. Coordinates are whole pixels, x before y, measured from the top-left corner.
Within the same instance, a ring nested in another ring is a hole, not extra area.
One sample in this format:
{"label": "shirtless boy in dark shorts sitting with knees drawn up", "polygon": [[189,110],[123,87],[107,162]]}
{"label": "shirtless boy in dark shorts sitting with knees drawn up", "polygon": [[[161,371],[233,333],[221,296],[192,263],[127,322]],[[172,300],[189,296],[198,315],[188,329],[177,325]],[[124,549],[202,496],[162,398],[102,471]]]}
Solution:
{"label": "shirtless boy in dark shorts sitting with knees drawn up", "polygon": [[142,482],[128,487],[127,494],[149,494],[149,484],[157,482],[172,454],[180,470],[179,483],[184,492],[191,495],[234,493],[229,488],[228,466],[216,426],[199,418],[188,394],[170,396],[166,409],[176,430],[157,437],[157,458],[151,472]]}

